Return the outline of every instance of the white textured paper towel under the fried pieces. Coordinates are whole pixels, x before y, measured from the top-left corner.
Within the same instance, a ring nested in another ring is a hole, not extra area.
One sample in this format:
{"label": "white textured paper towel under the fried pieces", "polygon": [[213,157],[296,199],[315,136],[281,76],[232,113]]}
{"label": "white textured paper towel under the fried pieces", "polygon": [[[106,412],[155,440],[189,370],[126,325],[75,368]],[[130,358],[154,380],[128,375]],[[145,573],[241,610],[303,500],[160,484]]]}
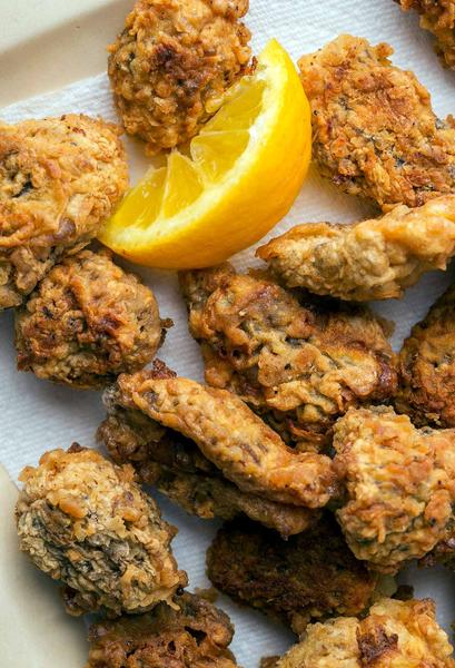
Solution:
{"label": "white textured paper towel under the fried pieces", "polygon": [[[403,14],[392,0],[250,0],[247,23],[254,33],[256,52],[271,38],[278,38],[294,59],[313,51],[342,32],[366,37],[373,42],[388,41],[395,48],[394,62],[414,70],[432,95],[436,111],[445,116],[455,111],[455,75],[443,70],[433,52],[432,38],[421,31],[416,17]],[[81,39],[83,36],[81,36]],[[111,35],[101,36],[106,43]],[[33,98],[0,111],[0,117],[16,121],[69,111],[83,111],[115,119],[105,75],[77,82],[56,94]],[[147,165],[140,144],[127,141],[133,179]],[[273,235],[305,220],[357,220],[368,215],[368,208],[358,200],[339,194],[322,180],[313,169],[293,210]],[[236,258],[238,267],[257,265],[254,249]],[[170,316],[175,327],[169,332],[160,351],[169,366],[178,373],[201,379],[197,345],[187,332],[184,304],[177,292],[176,278],[170,273],[135,267],[154,288],[162,316]],[[427,275],[408,291],[405,299],[377,305],[377,311],[395,321],[393,337],[398,348],[411,325],[419,320],[434,299],[453,281],[454,272]],[[30,374],[17,373],[12,345],[12,315],[0,315],[0,461],[16,479],[27,463],[36,463],[39,455],[51,448],[67,448],[72,441],[93,445],[93,434],[103,416],[98,393],[78,393],[38,381]],[[190,588],[207,586],[205,551],[217,523],[190,518],[162,498],[165,517],[179,527],[175,552],[180,567],[188,570]],[[454,581],[443,570],[407,571],[402,580],[416,587],[418,596],[432,596],[438,603],[439,620],[449,629],[455,619]],[[279,654],[294,637],[261,615],[235,606],[225,597],[218,599],[233,617],[236,638],[233,649],[245,668],[254,668],[261,656]],[[37,668],[41,665],[37,664]]]}

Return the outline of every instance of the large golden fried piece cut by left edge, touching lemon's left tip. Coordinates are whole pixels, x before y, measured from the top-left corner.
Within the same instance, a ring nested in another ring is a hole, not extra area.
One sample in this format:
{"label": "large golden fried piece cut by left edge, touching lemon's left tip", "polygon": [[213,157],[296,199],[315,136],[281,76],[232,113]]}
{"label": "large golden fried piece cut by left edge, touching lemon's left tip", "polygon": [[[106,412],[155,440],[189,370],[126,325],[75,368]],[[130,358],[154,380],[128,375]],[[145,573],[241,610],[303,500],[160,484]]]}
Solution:
{"label": "large golden fried piece cut by left edge, touching lemon's left tip", "polygon": [[128,187],[119,134],[73,114],[0,122],[0,310],[98,234]]}

